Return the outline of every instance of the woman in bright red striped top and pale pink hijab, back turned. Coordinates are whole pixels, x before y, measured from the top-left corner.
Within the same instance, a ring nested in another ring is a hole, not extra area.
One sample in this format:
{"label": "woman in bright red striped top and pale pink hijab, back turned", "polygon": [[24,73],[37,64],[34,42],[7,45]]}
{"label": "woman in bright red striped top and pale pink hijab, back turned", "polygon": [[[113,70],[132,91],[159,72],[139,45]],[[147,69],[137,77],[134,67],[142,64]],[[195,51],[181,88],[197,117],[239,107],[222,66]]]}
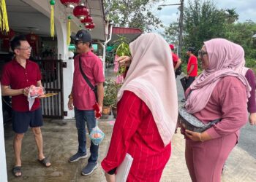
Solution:
{"label": "woman in bright red striped top and pale pink hijab, back turned", "polygon": [[128,153],[133,157],[127,181],[160,181],[170,158],[178,98],[167,42],[146,33],[129,44],[132,63],[118,92],[118,115],[108,154],[102,161],[107,181]]}

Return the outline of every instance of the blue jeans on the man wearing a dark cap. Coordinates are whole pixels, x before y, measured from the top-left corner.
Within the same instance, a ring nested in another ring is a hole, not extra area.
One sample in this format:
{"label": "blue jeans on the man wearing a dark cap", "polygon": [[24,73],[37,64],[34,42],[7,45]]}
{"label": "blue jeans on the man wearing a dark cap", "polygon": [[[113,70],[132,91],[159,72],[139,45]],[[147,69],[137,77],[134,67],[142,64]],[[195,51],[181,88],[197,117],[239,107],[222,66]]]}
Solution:
{"label": "blue jeans on the man wearing a dark cap", "polygon": [[[86,154],[86,125],[89,133],[96,127],[96,119],[94,110],[79,110],[75,108],[75,123],[78,129],[78,153]],[[91,142],[90,152],[91,156],[88,162],[97,162],[99,146]]]}

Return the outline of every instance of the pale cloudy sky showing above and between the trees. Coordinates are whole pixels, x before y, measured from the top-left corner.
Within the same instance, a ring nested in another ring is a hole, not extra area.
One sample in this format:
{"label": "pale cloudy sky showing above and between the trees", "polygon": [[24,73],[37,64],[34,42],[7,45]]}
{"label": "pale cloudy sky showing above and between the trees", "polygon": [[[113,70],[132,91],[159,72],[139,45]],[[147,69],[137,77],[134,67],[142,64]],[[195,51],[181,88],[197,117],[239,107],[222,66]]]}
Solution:
{"label": "pale cloudy sky showing above and between the trees", "polygon": [[[186,7],[188,0],[184,0]],[[244,22],[246,20],[252,20],[256,22],[256,0],[213,0],[216,7],[219,9],[236,9],[239,15],[238,22]],[[159,4],[177,4],[179,0],[166,0]],[[166,6],[162,7],[162,10],[153,10],[154,15],[157,15],[164,25],[169,25],[171,22],[175,22],[178,19],[178,6]]]}

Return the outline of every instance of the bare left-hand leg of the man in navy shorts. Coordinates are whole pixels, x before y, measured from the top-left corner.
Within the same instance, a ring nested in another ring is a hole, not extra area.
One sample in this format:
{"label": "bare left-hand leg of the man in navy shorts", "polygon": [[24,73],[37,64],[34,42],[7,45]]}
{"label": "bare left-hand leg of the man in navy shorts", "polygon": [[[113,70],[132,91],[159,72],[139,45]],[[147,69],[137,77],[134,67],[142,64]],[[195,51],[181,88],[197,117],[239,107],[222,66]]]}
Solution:
{"label": "bare left-hand leg of the man in navy shorts", "polygon": [[[15,166],[21,166],[20,152],[21,152],[21,144],[24,133],[15,133],[15,137],[13,139],[13,150],[15,154]],[[20,176],[21,172],[15,173],[16,176]]]}

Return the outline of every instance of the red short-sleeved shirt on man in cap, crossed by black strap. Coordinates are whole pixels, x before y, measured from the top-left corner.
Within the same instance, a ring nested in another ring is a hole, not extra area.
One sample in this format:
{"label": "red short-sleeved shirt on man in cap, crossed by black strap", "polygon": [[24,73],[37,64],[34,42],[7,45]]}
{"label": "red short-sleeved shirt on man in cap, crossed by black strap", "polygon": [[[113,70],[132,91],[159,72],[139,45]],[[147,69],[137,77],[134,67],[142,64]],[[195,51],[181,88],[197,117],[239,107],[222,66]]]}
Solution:
{"label": "red short-sleeved shirt on man in cap, crossed by black strap", "polygon": [[102,61],[91,51],[77,55],[74,59],[73,104],[80,110],[92,110],[95,104],[95,95],[80,72],[79,57],[81,57],[83,73],[86,74],[92,85],[105,81]]}

